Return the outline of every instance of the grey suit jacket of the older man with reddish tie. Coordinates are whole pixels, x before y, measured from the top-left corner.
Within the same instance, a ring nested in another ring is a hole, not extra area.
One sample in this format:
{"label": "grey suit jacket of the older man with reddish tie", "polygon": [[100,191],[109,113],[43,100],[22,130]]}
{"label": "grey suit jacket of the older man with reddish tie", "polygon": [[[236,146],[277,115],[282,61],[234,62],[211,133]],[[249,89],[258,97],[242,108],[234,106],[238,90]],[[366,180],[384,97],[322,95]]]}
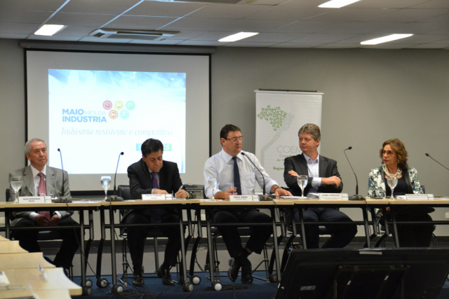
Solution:
{"label": "grey suit jacket of the older man with reddish tie", "polygon": [[[19,196],[32,196],[34,193],[34,178],[31,166],[23,167],[22,169],[17,169],[14,172],[9,174],[11,176],[22,176],[22,188],[20,188]],[[64,183],[64,196],[70,196],[70,188],[69,188],[69,175],[66,171],[64,171],[64,182],[62,182],[62,169],[46,167],[46,188],[47,194],[54,194],[55,196],[62,196],[62,183]],[[15,200],[15,192],[10,186],[9,190],[9,200]],[[53,211],[51,211],[53,214]],[[73,212],[69,211],[58,211],[62,218],[69,217],[73,214]],[[15,225],[20,218],[29,218],[29,215],[32,211],[19,211],[13,212],[14,221],[11,223]]]}

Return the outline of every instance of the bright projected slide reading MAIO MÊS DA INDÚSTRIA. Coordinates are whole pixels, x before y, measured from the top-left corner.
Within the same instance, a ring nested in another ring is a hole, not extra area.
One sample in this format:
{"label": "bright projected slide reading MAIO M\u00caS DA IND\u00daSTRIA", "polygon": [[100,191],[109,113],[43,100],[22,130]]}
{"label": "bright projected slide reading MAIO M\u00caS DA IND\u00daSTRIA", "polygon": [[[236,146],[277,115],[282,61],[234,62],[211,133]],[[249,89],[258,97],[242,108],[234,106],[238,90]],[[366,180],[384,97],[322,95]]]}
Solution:
{"label": "bright projected slide reading MAIO M\u00caS DA IND\u00daSTRIA", "polygon": [[160,139],[163,158],[185,172],[185,73],[48,69],[48,97],[50,144],[74,144],[64,157],[82,157],[66,160],[70,174],[110,169],[116,142],[137,161],[147,138]]}

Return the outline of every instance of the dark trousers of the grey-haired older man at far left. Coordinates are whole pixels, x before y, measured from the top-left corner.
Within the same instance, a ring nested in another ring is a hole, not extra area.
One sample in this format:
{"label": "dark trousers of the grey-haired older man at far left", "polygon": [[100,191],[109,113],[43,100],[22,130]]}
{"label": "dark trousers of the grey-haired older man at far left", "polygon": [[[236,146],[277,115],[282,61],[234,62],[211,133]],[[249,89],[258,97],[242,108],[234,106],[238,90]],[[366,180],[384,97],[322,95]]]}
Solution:
{"label": "dark trousers of the grey-haired older man at far left", "polygon": [[[36,227],[36,222],[28,218],[22,218],[15,223],[15,228],[29,228]],[[80,231],[79,224],[71,217],[62,218],[59,221],[59,226],[75,226],[75,228],[67,228],[67,230],[58,230],[62,239],[61,247],[56,253],[53,263],[58,267],[68,269],[72,266],[72,260],[79,248]],[[51,226],[48,226],[51,228]],[[39,230],[13,230],[11,233],[14,239],[19,241],[20,246],[29,252],[40,252],[41,248],[37,242]]]}

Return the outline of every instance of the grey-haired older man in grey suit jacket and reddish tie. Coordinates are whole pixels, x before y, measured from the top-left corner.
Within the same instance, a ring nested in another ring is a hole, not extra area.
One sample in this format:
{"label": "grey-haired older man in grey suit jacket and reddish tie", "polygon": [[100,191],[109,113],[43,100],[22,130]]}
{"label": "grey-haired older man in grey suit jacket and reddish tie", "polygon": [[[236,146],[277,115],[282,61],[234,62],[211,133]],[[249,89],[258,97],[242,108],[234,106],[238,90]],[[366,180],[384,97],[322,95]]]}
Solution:
{"label": "grey-haired older man in grey suit jacket and reddish tie", "polygon": [[[22,176],[22,188],[18,196],[50,195],[70,197],[69,176],[62,170],[47,166],[47,146],[41,139],[30,139],[25,144],[25,156],[30,162],[28,167],[15,170],[11,176]],[[43,180],[43,181],[42,181]],[[62,188],[64,186],[64,188]],[[64,190],[64,194],[62,194]],[[9,201],[15,197],[14,190],[10,188]],[[68,269],[76,250],[79,248],[79,225],[70,217],[73,212],[69,211],[18,211],[12,213],[14,228],[36,227],[36,226],[67,226],[67,230],[58,230],[62,238],[62,245],[55,256],[53,263],[58,267]],[[41,251],[37,242],[39,230],[13,230],[14,239],[19,241],[20,246],[29,252]]]}

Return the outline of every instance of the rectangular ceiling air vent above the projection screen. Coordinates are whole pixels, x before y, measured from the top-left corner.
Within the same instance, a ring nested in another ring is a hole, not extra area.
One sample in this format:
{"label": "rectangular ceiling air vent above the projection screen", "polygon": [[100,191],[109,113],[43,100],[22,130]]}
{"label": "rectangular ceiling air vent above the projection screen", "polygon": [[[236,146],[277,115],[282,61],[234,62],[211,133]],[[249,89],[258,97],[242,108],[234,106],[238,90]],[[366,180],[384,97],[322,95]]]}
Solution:
{"label": "rectangular ceiling air vent above the projection screen", "polygon": [[135,30],[135,29],[109,29],[99,28],[89,35],[99,39],[144,39],[146,41],[163,41],[175,36],[180,32],[157,31],[157,30]]}

